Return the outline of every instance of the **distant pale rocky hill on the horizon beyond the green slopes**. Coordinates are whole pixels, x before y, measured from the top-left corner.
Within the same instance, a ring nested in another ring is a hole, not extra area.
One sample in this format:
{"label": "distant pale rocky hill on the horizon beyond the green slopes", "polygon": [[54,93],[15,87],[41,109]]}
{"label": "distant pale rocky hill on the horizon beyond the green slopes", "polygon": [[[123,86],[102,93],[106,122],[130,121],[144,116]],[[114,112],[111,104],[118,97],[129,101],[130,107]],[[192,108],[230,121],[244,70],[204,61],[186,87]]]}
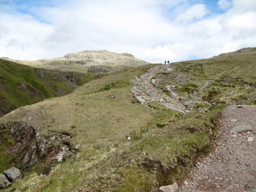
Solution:
{"label": "distant pale rocky hill on the horizon beyond the green slopes", "polygon": [[84,50],[78,53],[68,53],[61,58],[41,59],[37,61],[12,60],[20,64],[44,69],[58,69],[64,72],[87,72],[89,66],[111,66],[113,69],[148,64],[129,53],[113,53],[108,50]]}

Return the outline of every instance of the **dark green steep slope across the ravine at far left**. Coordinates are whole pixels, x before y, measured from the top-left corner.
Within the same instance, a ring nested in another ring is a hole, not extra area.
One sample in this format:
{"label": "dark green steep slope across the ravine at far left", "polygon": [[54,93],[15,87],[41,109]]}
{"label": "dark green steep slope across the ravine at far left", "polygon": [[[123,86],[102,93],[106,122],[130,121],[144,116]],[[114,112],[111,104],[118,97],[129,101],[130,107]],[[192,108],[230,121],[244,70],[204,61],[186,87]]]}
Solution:
{"label": "dark green steep slope across the ravine at far left", "polygon": [[71,93],[97,74],[37,69],[0,59],[0,116],[18,107]]}

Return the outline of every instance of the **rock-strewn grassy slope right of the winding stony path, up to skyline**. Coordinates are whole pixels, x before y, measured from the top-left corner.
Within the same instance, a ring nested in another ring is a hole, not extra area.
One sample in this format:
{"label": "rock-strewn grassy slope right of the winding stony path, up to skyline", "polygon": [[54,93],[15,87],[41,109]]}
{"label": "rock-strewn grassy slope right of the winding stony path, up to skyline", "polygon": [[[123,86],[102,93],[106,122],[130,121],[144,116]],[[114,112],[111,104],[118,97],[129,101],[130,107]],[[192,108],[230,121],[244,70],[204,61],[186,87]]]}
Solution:
{"label": "rock-strewn grassy slope right of the winding stony path, up to skyline", "polygon": [[176,85],[179,100],[192,110],[217,103],[256,104],[256,48],[175,66],[175,72],[157,75],[159,88]]}

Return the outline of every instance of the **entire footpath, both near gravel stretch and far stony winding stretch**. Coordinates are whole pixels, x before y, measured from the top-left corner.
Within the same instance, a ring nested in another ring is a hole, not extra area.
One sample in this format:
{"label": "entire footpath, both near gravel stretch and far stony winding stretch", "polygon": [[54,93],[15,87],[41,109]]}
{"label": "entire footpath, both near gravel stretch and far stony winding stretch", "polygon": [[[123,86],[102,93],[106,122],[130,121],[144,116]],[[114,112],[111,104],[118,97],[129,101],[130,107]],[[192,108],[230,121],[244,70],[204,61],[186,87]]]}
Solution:
{"label": "entire footpath, both near gravel stretch and far stony winding stretch", "polygon": [[[188,112],[176,99],[155,86],[155,66],[133,80],[131,89],[141,104],[157,101],[167,109]],[[230,106],[222,112],[214,149],[192,169],[178,192],[256,192],[256,106]]]}

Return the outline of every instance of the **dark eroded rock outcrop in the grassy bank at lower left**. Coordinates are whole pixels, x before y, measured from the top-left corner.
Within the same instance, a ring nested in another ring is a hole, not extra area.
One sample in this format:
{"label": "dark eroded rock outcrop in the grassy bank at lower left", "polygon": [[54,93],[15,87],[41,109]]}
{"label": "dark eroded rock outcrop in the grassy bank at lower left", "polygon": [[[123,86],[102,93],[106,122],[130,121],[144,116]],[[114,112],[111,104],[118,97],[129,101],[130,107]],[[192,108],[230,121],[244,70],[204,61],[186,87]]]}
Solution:
{"label": "dark eroded rock outcrop in the grassy bank at lower left", "polygon": [[[23,121],[3,124],[0,129],[10,130],[10,137],[14,139],[10,153],[18,158],[20,169],[29,169],[40,160],[45,166],[45,169],[42,169],[43,174],[48,174],[50,166],[72,155],[68,141],[71,136],[65,133],[50,133],[47,137],[40,137],[33,126]],[[15,173],[15,170],[10,171]],[[4,174],[12,175],[9,172]],[[15,180],[15,177],[10,178]]]}

